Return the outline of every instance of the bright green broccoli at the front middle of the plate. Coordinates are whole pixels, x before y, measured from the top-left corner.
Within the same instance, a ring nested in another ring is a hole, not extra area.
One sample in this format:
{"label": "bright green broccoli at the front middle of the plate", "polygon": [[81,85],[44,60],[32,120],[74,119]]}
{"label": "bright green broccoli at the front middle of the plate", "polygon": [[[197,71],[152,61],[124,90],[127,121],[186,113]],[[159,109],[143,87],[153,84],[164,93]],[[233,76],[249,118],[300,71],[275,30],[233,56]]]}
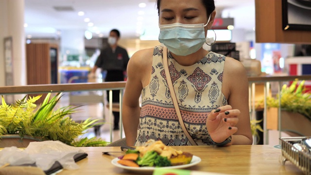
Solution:
{"label": "bright green broccoli at the front middle of the plate", "polygon": [[167,157],[162,157],[155,151],[149,151],[143,157],[138,157],[136,163],[139,166],[171,166],[171,161]]}

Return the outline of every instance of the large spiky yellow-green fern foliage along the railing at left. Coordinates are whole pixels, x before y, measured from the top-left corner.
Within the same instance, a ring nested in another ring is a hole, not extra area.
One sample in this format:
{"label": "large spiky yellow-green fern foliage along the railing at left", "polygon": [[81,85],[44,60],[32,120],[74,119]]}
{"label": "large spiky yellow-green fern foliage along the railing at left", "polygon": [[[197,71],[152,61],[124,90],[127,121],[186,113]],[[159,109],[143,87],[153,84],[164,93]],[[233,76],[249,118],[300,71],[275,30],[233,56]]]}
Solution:
{"label": "large spiky yellow-green fern foliage along the railing at left", "polygon": [[94,125],[103,124],[100,119],[87,119],[76,123],[68,116],[77,111],[79,106],[65,106],[55,109],[62,97],[57,93],[51,98],[47,94],[43,103],[37,107],[35,102],[42,95],[17,100],[7,105],[2,96],[0,105],[0,137],[6,134],[18,134],[21,138],[32,136],[41,140],[59,140],[71,146],[106,146],[108,142],[97,139],[81,138],[86,130]]}

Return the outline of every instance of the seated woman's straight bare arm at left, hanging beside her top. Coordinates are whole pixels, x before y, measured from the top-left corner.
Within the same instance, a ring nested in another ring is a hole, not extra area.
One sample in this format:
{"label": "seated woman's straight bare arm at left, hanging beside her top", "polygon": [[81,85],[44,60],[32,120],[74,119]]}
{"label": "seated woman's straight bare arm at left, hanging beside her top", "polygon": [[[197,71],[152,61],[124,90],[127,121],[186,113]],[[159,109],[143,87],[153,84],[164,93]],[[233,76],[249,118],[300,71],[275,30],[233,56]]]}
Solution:
{"label": "seated woman's straight bare arm at left, hanging beside her top", "polygon": [[150,77],[152,53],[142,50],[135,53],[128,62],[127,81],[122,101],[122,123],[126,144],[134,146],[140,116],[139,97],[147,78]]}

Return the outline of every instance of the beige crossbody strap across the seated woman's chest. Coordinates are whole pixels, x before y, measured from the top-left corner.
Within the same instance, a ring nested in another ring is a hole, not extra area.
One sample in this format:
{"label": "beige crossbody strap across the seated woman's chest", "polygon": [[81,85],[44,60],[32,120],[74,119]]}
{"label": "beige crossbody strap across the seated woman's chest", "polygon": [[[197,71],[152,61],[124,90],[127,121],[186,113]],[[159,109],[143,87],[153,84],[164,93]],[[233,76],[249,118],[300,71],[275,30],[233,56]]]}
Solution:
{"label": "beige crossbody strap across the seated woman's chest", "polygon": [[176,114],[177,114],[180,126],[183,129],[186,137],[190,141],[191,145],[198,145],[191,138],[191,136],[190,136],[190,134],[189,134],[189,132],[188,132],[186,126],[185,126],[185,123],[184,123],[184,121],[183,121],[183,119],[181,117],[180,109],[179,109],[179,106],[178,106],[178,102],[177,102],[176,94],[175,94],[175,91],[174,91],[174,88],[173,88],[173,83],[172,83],[171,74],[170,74],[170,70],[169,70],[169,63],[168,63],[168,58],[167,58],[167,48],[166,47],[163,47],[163,63],[164,63],[164,70],[165,70],[165,75],[166,75],[166,81],[167,81],[167,84],[168,84],[170,92],[171,92],[171,97],[173,99],[173,105],[175,107]]}

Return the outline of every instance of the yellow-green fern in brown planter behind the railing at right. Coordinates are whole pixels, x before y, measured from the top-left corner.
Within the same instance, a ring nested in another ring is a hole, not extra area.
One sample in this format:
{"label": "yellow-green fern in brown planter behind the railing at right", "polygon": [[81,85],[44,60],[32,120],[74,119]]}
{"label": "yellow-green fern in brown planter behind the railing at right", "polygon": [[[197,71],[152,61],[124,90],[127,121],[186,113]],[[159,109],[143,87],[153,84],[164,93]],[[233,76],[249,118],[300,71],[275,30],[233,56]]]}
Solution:
{"label": "yellow-green fern in brown planter behind the railing at right", "polygon": [[293,136],[311,135],[311,93],[304,86],[305,80],[283,85],[279,95],[267,97],[267,128],[278,129],[278,108],[281,108],[281,129]]}

